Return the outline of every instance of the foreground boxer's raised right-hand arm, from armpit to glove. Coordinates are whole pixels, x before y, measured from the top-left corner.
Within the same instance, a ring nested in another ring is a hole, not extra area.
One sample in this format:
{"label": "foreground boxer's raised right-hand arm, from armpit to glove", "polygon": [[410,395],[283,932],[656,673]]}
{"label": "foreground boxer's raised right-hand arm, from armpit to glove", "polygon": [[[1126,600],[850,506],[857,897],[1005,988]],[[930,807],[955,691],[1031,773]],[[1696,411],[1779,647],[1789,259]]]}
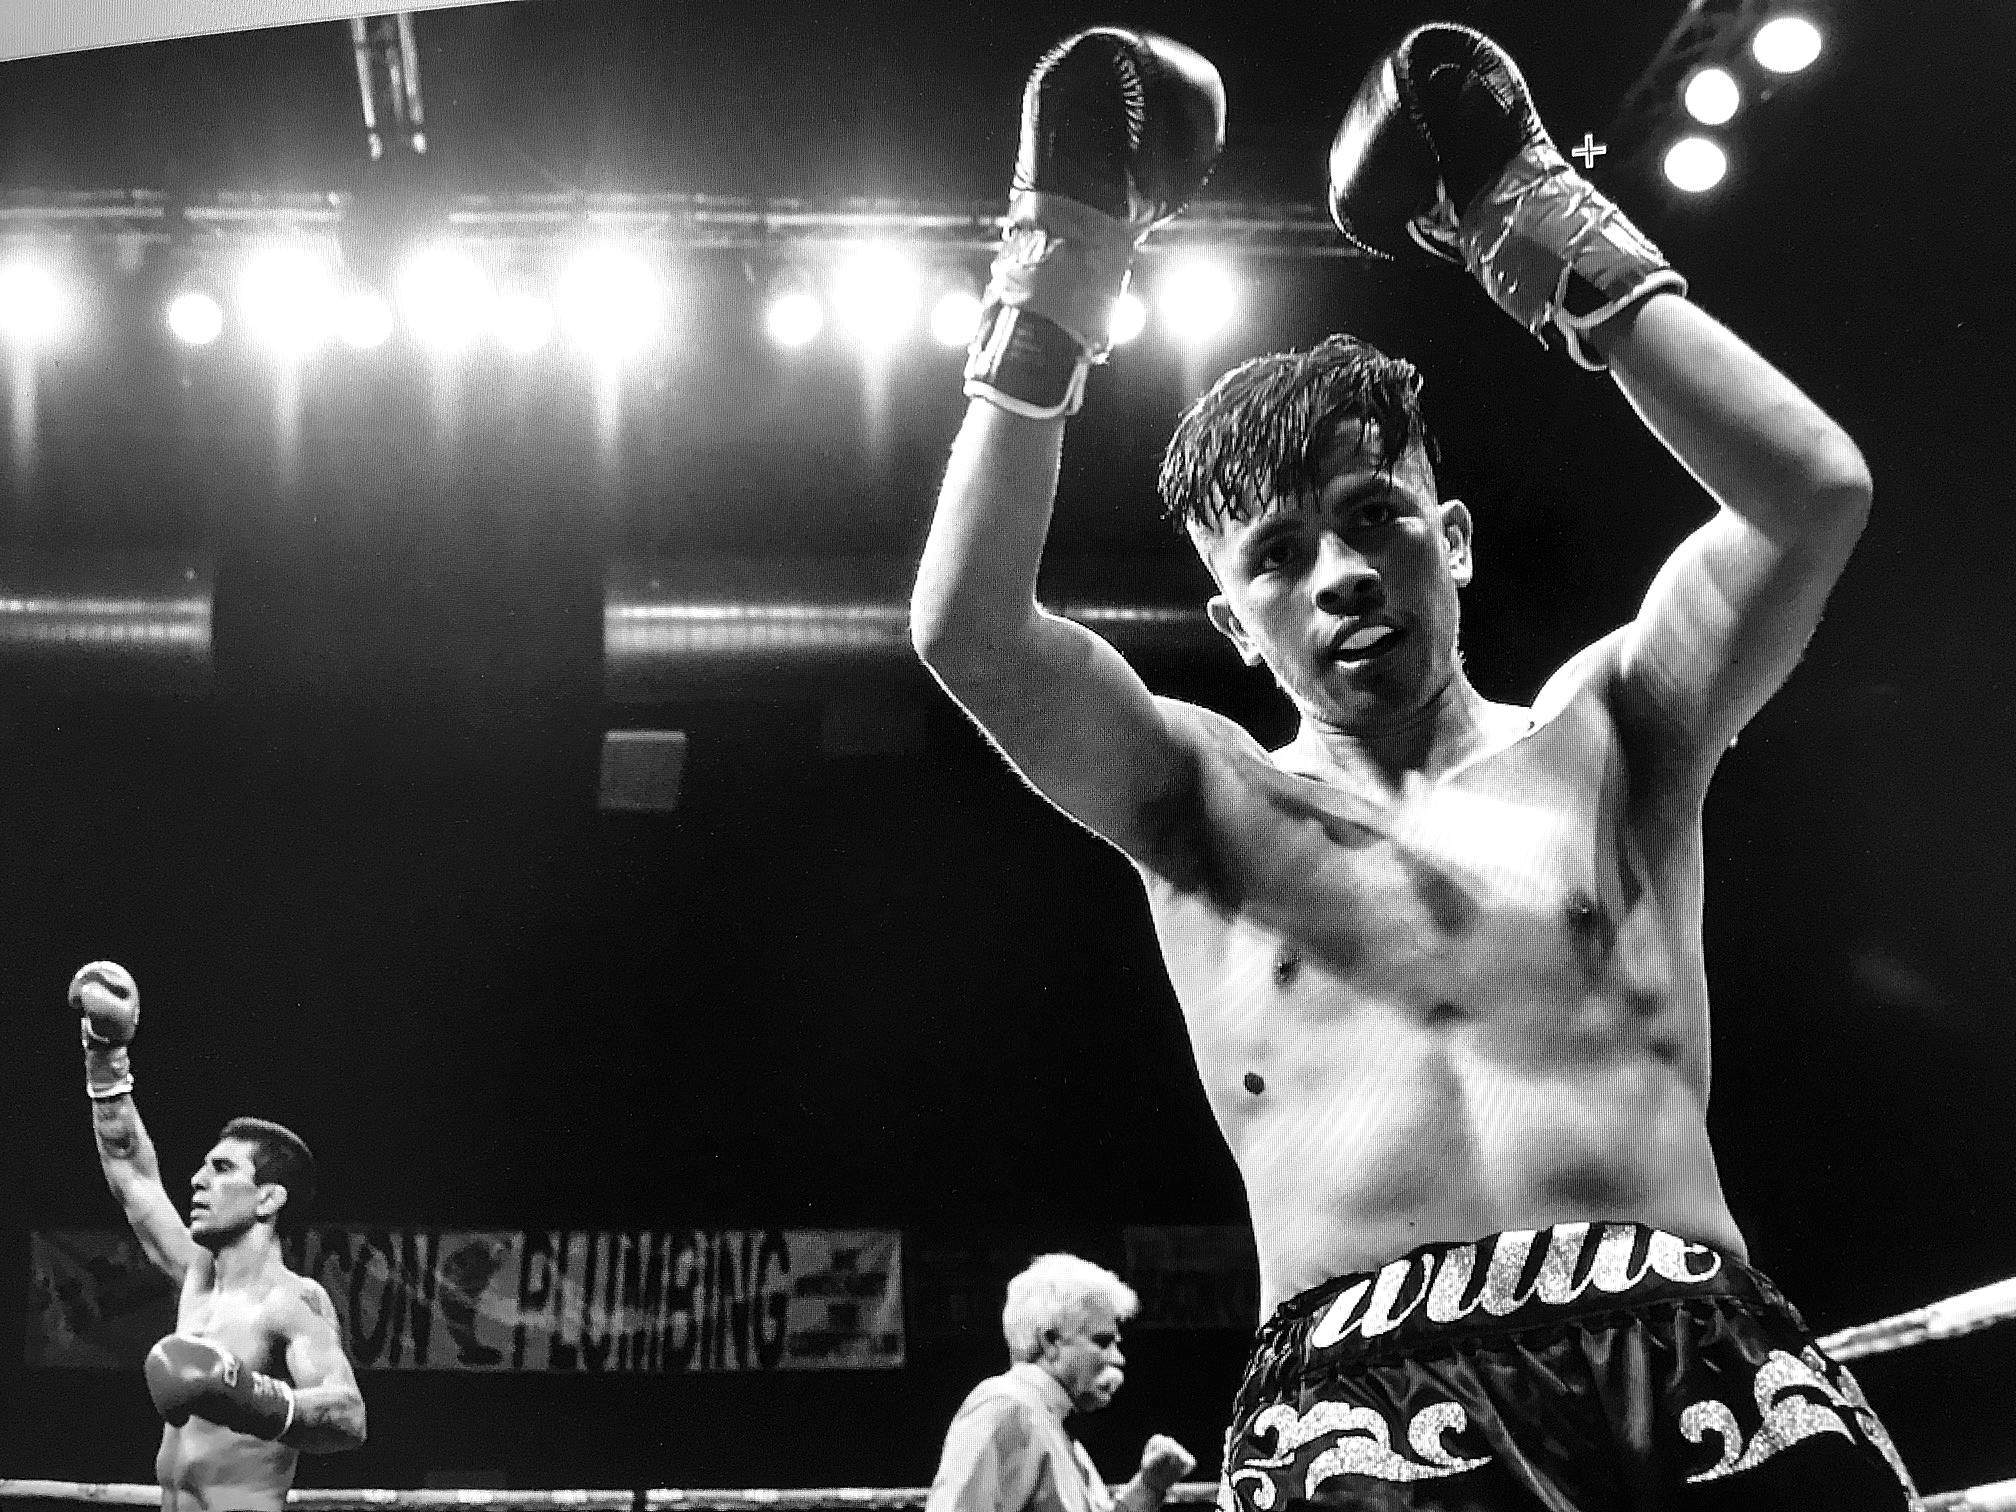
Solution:
{"label": "foreground boxer's raised right-hand arm, from armpit to glove", "polygon": [[1373,65],[1331,145],[1331,214],[1375,256],[1462,264],[1528,333],[1609,367],[1722,506],[1617,639],[1611,687],[1635,770],[1653,794],[1695,800],[1798,661],[1861,534],[1855,444],[1683,298],[1679,272],[1562,159],[1518,65],[1482,32],[1431,22]]}

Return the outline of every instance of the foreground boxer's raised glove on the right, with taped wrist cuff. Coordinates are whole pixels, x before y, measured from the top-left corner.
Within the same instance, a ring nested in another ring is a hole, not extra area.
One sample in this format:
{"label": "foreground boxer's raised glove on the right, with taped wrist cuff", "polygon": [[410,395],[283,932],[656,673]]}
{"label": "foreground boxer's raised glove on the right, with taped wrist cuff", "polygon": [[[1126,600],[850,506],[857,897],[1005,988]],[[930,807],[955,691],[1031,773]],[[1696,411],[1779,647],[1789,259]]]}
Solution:
{"label": "foreground boxer's raised glove on the right, with taped wrist cuff", "polygon": [[1510,54],[1468,26],[1417,26],[1365,75],[1331,143],[1331,218],[1371,256],[1411,240],[1462,264],[1595,373],[1595,327],[1661,288],[1687,292],[1554,147]]}

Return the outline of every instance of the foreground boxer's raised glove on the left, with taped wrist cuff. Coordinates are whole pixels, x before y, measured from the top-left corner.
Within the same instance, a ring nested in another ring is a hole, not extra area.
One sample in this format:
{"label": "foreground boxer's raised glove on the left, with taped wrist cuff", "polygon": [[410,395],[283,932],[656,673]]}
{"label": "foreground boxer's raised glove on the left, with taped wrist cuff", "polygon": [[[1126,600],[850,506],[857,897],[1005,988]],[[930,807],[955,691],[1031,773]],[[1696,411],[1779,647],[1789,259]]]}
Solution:
{"label": "foreground boxer's raised glove on the left, with taped wrist cuff", "polygon": [[1153,32],[1099,26],[1022,91],[1008,226],[966,393],[1032,419],[1077,413],[1113,345],[1135,246],[1198,192],[1226,143],[1218,69]]}

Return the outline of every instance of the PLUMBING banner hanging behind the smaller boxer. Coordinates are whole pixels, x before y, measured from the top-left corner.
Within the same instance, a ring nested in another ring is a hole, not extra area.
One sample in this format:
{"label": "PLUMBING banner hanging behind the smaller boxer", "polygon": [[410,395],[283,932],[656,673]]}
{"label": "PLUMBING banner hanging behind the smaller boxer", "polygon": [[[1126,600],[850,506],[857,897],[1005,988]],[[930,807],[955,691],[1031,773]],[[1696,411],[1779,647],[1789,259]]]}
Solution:
{"label": "PLUMBING banner hanging behind the smaller boxer", "polygon": [[[562,1373],[897,1369],[901,1258],[893,1230],[782,1228],[314,1228],[288,1252],[359,1369]],[[139,1365],[173,1327],[125,1236],[36,1234],[30,1266],[30,1365]]]}

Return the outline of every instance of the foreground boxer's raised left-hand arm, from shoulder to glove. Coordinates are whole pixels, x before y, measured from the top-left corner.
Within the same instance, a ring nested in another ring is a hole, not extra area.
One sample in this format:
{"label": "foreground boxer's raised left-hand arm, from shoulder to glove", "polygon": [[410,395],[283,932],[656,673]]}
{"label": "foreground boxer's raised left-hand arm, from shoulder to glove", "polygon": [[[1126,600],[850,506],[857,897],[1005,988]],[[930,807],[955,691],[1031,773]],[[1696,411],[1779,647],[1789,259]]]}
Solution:
{"label": "foreground boxer's raised left-hand arm, from shoulder to glove", "polygon": [[911,599],[911,639],[946,689],[1064,812],[1137,859],[1145,814],[1189,780],[1133,669],[1036,605],[1064,417],[1111,345],[1133,250],[1181,210],[1224,143],[1218,71],[1111,26],[1052,48],[1022,95],[1008,228],[966,365]]}

